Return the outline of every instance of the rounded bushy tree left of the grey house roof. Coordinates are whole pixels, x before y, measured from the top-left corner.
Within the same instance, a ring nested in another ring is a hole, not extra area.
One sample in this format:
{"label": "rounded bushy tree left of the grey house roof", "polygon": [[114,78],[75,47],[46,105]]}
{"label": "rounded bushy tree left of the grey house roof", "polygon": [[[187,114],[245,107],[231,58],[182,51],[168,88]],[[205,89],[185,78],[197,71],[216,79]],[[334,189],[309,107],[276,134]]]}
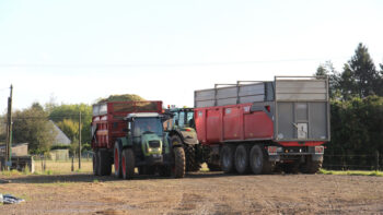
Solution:
{"label": "rounded bushy tree left of the grey house roof", "polygon": [[48,115],[38,103],[34,103],[27,109],[14,112],[13,142],[30,143],[31,153],[48,152],[55,136],[56,132],[48,120]]}

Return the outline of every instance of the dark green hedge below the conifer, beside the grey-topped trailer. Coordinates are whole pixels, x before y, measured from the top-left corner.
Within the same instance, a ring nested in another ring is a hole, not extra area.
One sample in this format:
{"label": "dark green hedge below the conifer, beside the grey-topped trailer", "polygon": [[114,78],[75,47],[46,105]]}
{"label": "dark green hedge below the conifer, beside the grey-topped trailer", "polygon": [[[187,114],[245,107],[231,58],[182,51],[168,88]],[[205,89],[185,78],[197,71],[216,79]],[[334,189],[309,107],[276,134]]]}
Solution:
{"label": "dark green hedge below the conifer, beside the grey-topped trailer", "polygon": [[332,165],[375,166],[376,151],[383,155],[383,97],[332,100],[332,141],[325,159]]}

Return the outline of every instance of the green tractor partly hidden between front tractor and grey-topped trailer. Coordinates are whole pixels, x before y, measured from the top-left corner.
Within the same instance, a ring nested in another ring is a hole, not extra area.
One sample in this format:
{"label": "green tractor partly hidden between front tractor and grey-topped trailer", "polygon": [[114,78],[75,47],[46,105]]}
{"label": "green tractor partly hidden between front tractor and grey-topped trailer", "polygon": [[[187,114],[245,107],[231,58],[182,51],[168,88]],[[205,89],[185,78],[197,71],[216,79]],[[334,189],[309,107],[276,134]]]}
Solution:
{"label": "green tractor partly hidden between front tractor and grey-topped trailer", "polygon": [[166,109],[173,118],[165,122],[166,131],[173,143],[181,144],[186,156],[186,171],[198,171],[201,168],[201,147],[197,140],[193,108]]}

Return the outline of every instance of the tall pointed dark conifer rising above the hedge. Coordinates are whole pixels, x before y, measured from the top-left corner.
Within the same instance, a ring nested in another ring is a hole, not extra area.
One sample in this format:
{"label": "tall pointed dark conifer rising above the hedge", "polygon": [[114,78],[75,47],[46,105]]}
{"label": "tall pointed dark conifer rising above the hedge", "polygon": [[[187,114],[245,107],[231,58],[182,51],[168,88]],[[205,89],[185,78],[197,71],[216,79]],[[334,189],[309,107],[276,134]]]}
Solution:
{"label": "tall pointed dark conifer rising above the hedge", "polygon": [[359,44],[355,56],[344,67],[340,75],[340,88],[345,99],[352,96],[364,98],[379,95],[382,75],[376,71],[368,48]]}

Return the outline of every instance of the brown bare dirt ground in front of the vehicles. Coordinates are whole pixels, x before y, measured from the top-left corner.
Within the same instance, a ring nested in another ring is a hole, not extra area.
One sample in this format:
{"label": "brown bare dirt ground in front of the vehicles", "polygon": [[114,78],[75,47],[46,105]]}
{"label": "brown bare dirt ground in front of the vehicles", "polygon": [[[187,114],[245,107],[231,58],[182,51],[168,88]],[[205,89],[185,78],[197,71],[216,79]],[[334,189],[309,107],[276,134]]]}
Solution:
{"label": "brown bare dirt ground in front of the vehicles", "polygon": [[383,214],[383,177],[234,176],[135,180],[62,176],[2,177],[0,193],[24,198],[0,214]]}

